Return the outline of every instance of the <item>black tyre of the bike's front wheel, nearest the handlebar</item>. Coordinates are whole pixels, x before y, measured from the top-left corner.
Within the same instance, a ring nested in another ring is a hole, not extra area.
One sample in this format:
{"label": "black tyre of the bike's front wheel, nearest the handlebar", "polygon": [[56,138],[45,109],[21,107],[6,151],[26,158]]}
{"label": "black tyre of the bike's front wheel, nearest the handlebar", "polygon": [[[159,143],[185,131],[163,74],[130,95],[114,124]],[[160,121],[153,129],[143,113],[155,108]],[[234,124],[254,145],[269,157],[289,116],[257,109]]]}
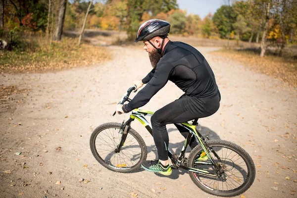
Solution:
{"label": "black tyre of the bike's front wheel, nearest the handlebar", "polygon": [[[138,142],[140,149],[141,149],[141,156],[139,157],[139,161],[131,166],[131,167],[112,167],[110,164],[108,164],[104,159],[101,158],[101,156],[99,155],[97,149],[96,149],[96,139],[98,137],[98,135],[100,134],[100,132],[106,130],[106,129],[120,129],[121,124],[120,123],[115,123],[115,122],[110,122],[110,123],[104,123],[100,126],[98,126],[92,133],[91,138],[90,138],[90,148],[91,151],[94,155],[94,157],[97,159],[97,161],[104,166],[105,168],[115,171],[115,172],[121,172],[121,173],[131,173],[137,169],[139,169],[141,167],[141,162],[143,160],[147,159],[147,146],[145,141],[142,139],[142,137],[132,128],[130,128],[127,132],[128,135],[130,134],[133,138],[136,139],[136,141]],[[127,141],[127,139],[126,139]],[[123,152],[124,146],[122,147],[120,152]]]}

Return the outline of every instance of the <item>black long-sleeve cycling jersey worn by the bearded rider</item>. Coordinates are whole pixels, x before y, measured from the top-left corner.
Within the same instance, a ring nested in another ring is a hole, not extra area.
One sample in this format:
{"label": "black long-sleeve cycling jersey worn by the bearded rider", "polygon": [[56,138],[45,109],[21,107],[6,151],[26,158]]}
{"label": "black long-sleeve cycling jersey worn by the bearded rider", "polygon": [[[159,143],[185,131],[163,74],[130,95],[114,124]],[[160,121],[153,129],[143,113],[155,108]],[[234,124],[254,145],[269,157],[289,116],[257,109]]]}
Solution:
{"label": "black long-sleeve cycling jersey worn by the bearded rider", "polygon": [[188,44],[169,41],[156,68],[142,80],[147,85],[124,106],[126,112],[148,103],[168,80],[186,95],[200,99],[211,99],[219,92],[214,74],[204,56]]}

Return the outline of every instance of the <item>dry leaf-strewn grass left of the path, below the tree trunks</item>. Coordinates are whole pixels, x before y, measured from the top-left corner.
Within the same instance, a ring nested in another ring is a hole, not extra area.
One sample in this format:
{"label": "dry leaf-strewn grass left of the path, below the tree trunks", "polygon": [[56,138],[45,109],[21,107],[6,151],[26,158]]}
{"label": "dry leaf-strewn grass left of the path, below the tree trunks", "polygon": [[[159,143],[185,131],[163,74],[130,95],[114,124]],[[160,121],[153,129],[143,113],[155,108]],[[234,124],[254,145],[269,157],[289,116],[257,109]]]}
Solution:
{"label": "dry leaf-strewn grass left of the path, below the tree trunks", "polygon": [[39,73],[67,68],[89,66],[109,59],[104,47],[82,44],[77,39],[62,38],[61,42],[49,42],[44,37],[24,39],[30,48],[25,51],[0,51],[0,72]]}

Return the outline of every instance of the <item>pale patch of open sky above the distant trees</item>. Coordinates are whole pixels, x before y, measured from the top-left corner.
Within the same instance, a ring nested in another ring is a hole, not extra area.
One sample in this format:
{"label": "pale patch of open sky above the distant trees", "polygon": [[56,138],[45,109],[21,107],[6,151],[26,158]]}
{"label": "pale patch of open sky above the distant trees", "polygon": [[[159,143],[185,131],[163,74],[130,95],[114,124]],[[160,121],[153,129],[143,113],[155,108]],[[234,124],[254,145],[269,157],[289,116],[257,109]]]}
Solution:
{"label": "pale patch of open sky above the distant trees", "polygon": [[227,0],[177,0],[180,9],[186,9],[187,14],[198,14],[203,19],[209,12],[212,14]]}

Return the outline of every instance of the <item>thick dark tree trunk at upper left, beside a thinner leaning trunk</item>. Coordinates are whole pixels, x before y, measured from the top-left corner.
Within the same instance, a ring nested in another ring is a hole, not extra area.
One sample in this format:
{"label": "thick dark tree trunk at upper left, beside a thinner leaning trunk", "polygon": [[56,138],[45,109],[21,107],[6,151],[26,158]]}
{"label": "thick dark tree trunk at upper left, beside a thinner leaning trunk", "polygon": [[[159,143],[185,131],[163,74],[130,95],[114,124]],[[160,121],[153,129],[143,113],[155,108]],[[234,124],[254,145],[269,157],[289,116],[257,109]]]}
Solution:
{"label": "thick dark tree trunk at upper left, beside a thinner leaning trunk", "polygon": [[56,16],[55,30],[53,33],[53,40],[55,41],[60,41],[62,37],[66,5],[67,5],[67,0],[60,0],[58,15]]}

